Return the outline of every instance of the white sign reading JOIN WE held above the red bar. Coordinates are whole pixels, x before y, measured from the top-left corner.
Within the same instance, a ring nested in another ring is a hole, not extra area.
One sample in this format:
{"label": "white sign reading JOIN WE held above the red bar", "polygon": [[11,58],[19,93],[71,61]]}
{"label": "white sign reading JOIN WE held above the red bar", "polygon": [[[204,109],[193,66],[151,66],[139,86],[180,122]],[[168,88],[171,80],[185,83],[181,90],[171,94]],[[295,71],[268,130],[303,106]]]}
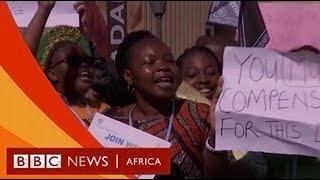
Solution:
{"label": "white sign reading JOIN WE held above the red bar", "polygon": [[96,113],[89,132],[104,147],[111,148],[170,148],[171,143],[139,129]]}

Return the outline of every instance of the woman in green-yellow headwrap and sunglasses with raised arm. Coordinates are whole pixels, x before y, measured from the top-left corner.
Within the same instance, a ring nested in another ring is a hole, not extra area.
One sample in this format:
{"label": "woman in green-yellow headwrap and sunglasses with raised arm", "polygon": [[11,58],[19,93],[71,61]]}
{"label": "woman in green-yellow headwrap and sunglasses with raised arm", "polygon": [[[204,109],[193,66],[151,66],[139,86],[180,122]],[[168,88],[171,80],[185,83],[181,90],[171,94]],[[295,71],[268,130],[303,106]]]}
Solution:
{"label": "woman in green-yellow headwrap and sunglasses with raised arm", "polygon": [[59,95],[81,123],[88,127],[94,113],[109,106],[92,99],[97,94],[91,89],[93,74],[90,67],[93,61],[88,56],[89,42],[83,34],[75,27],[61,25],[41,38],[54,5],[55,1],[38,2],[38,10],[23,37]]}

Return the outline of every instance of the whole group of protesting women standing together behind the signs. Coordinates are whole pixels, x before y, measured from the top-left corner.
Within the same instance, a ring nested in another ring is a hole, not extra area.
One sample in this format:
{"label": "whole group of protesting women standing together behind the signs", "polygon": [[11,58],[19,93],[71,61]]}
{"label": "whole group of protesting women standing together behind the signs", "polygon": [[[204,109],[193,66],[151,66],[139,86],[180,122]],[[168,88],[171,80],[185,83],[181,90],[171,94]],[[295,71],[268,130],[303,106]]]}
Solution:
{"label": "whole group of protesting women standing together behind the signs", "polygon": [[[171,142],[171,176],[276,177],[263,153],[249,152],[237,159],[231,151],[215,150],[214,109],[223,85],[222,55],[225,46],[236,42],[200,37],[175,59],[151,32],[134,31],[119,45],[114,75],[114,67],[96,54],[85,29],[61,25],[42,36],[55,2],[39,1],[38,5],[23,37],[53,87],[85,127],[99,112]],[[85,13],[83,5],[75,7]],[[177,98],[182,81],[211,105]]]}

